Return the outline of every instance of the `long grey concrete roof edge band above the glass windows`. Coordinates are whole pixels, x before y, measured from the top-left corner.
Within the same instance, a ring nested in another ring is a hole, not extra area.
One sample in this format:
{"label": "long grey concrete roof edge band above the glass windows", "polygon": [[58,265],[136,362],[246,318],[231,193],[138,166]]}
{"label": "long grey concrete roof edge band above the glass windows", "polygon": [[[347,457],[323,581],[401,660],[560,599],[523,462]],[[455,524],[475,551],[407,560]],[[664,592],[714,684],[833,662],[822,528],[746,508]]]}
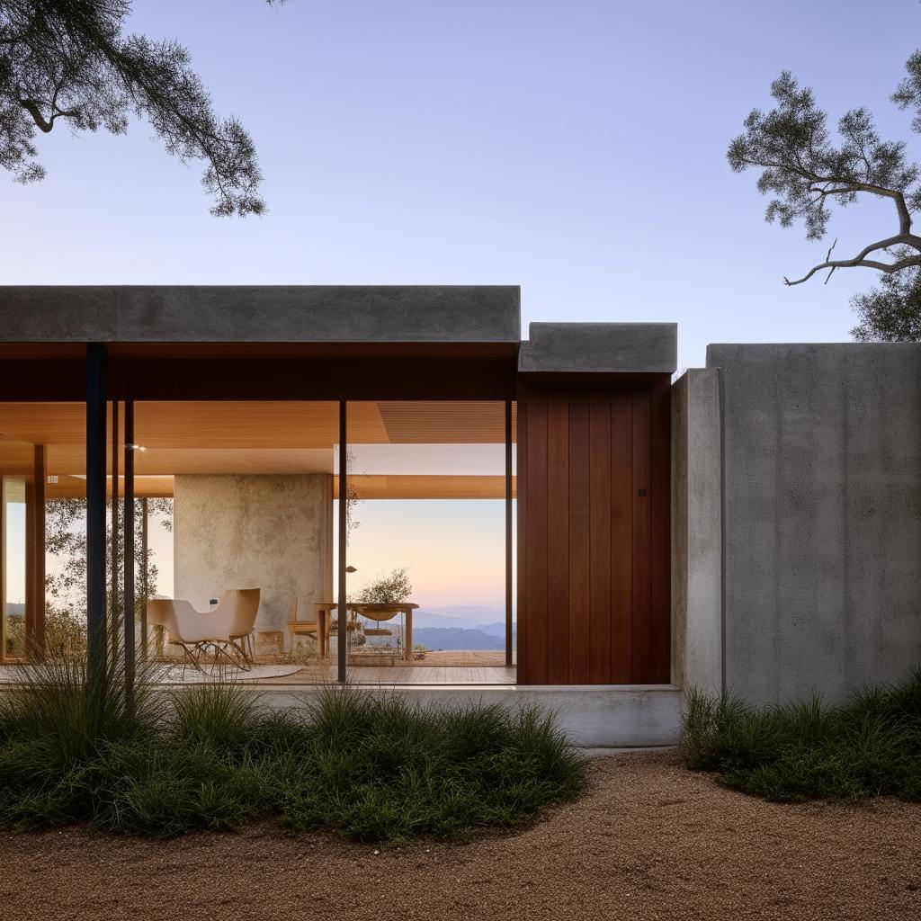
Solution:
{"label": "long grey concrete roof edge band above the glass windows", "polygon": [[517,343],[518,286],[0,286],[3,342]]}

